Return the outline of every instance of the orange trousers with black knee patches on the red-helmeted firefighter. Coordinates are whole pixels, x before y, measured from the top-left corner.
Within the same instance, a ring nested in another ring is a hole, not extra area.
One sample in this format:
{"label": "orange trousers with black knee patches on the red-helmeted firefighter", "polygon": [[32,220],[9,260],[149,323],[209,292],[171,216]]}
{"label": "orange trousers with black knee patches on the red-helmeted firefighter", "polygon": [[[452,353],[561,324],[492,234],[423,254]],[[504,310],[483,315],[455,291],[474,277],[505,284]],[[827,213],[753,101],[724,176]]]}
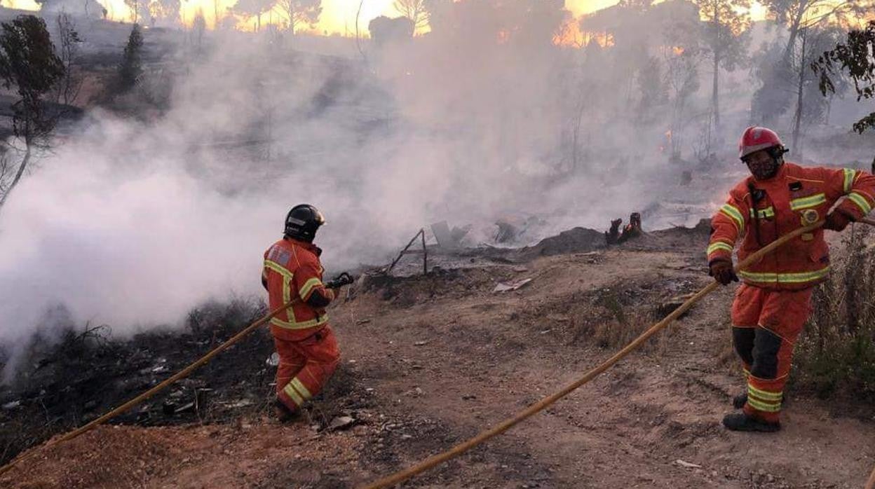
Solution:
{"label": "orange trousers with black knee patches on the red-helmeted firefighter", "polygon": [[742,284],[732,302],[732,342],[747,379],[745,413],[768,423],[781,415],[793,346],[811,311],[811,291]]}

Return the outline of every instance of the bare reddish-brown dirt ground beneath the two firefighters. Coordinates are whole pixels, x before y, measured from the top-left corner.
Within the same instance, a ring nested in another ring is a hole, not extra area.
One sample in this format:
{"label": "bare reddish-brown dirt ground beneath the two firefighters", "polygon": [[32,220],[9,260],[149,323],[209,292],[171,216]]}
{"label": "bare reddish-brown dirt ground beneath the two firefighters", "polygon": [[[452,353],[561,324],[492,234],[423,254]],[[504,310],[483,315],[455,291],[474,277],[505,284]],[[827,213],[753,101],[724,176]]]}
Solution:
{"label": "bare reddish-brown dirt ground beneath the two firefighters", "polygon": [[[614,248],[565,241],[349,290],[332,306],[341,366],[300,423],[282,426],[267,416],[271,350],[260,332],[120,418],[123,424],[31,448],[35,457],[0,486],[362,486],[574,381],[710,280],[702,256],[707,227]],[[496,283],[525,278],[531,282],[519,290],[493,292]],[[720,425],[743,387],[728,318],[733,290],[705,297],[595,381],[407,486],[863,486],[875,464],[875,420],[849,414],[865,412],[849,401],[791,389],[781,433]],[[159,352],[130,367],[136,386],[113,371],[105,380],[112,387],[91,387],[90,407],[87,396],[69,397],[55,416],[75,411],[87,421],[227,338],[209,331],[207,316],[184,337],[152,338],[149,347]],[[136,359],[140,350],[128,347]],[[157,357],[165,360],[154,367]],[[126,363],[120,360],[105,359]],[[27,399],[22,406],[38,410]],[[18,409],[20,423],[28,411]],[[11,415],[4,416],[10,430]]]}

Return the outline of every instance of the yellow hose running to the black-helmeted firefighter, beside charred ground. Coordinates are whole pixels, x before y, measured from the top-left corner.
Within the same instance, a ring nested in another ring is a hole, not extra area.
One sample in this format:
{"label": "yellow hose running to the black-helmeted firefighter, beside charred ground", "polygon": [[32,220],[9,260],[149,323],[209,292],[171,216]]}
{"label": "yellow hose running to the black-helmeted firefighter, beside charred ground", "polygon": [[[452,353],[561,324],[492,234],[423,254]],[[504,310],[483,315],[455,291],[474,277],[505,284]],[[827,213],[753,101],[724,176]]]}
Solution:
{"label": "yellow hose running to the black-helmeted firefighter, beside charred ground", "polygon": [[[276,308],[274,311],[270,311],[270,313],[267,316],[255,321],[255,323],[252,323],[251,325],[248,325],[241,332],[238,332],[237,334],[235,334],[231,339],[228,339],[228,341],[226,341],[225,343],[222,343],[220,346],[216,346],[214,348],[214,350],[212,350],[210,353],[207,353],[206,355],[201,357],[200,360],[194,362],[192,365],[189,365],[188,367],[180,370],[177,374],[174,374],[172,377],[170,377],[166,381],[161,382],[157,386],[147,390],[146,392],[144,392],[141,395],[137,395],[137,397],[131,399],[129,402],[125,402],[123,405],[119,406],[116,409],[109,411],[109,413],[95,419],[91,423],[88,423],[79,429],[70,431],[69,433],[67,433],[63,437],[59,437],[58,439],[54,440],[53,442],[49,442],[48,444],[45,444],[45,448],[49,448],[49,447],[52,447],[54,445],[61,444],[61,443],[66,442],[68,440],[72,440],[75,437],[79,437],[80,435],[87,433],[88,431],[94,429],[95,427],[97,427],[103,423],[108,422],[110,419],[122,414],[123,412],[128,411],[129,409],[133,408],[134,406],[136,406],[140,402],[144,402],[146,399],[149,399],[151,396],[158,394],[158,392],[169,387],[173,382],[179,381],[179,379],[182,379],[183,377],[186,377],[188,374],[191,374],[196,368],[204,365],[205,363],[207,363],[210,360],[213,360],[214,356],[218,355],[219,353],[221,353],[224,350],[227,350],[229,346],[232,346],[235,343],[237,343],[238,341],[240,341],[241,339],[243,339],[243,337],[246,336],[248,333],[253,332],[259,326],[263,325],[264,323],[267,323],[270,320],[270,318],[273,318],[274,316],[276,316],[280,312],[285,311],[286,309],[289,309],[292,306],[292,304],[295,304],[298,300],[299,299],[297,297],[295,297],[292,300],[290,300],[287,304],[283,304],[282,306]],[[13,459],[9,464],[4,465],[2,468],[0,468],[0,475],[3,475],[4,473],[9,472],[12,467],[14,467],[15,465],[18,465],[22,461],[27,460],[28,458],[32,458],[36,454],[36,452],[37,452],[36,450],[30,451],[28,454],[25,454],[22,457],[18,457],[18,458]]]}

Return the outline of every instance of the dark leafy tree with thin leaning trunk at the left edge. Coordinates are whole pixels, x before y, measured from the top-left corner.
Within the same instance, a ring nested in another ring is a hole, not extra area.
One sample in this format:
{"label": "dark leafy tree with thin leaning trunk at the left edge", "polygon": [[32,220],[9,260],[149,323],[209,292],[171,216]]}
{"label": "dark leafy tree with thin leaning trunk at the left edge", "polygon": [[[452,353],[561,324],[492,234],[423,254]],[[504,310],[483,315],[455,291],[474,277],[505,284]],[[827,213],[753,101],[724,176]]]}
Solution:
{"label": "dark leafy tree with thin leaning trunk at the left edge", "polygon": [[0,82],[7,89],[15,87],[20,97],[12,104],[12,129],[25,143],[18,168],[8,159],[0,165],[0,207],[21,181],[33,150],[44,146],[52,134],[57,117],[46,110],[43,97],[64,72],[43,19],[23,15],[0,24]]}

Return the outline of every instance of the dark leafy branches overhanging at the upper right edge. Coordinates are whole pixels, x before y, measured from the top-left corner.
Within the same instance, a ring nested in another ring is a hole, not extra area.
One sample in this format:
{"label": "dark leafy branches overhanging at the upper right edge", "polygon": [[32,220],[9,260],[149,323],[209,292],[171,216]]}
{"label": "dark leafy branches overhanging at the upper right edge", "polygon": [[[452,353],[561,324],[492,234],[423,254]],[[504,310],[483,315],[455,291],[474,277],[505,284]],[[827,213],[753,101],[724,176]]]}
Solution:
{"label": "dark leafy branches overhanging at the upper right edge", "polygon": [[[820,90],[823,95],[836,92],[839,77],[846,76],[853,82],[857,101],[875,100],[875,20],[869,21],[865,29],[848,32],[844,43],[838,43],[830,51],[823,52],[811,68],[820,76]],[[875,129],[875,112],[854,122],[854,130],[860,134],[866,129]]]}

